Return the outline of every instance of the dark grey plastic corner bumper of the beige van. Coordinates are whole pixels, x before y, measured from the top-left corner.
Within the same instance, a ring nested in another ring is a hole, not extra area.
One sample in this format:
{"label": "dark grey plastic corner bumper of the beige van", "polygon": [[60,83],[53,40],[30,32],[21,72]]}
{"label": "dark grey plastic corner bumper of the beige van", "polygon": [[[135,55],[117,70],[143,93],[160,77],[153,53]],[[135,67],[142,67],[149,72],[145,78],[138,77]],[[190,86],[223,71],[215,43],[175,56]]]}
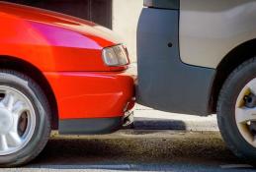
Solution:
{"label": "dark grey plastic corner bumper of the beige van", "polygon": [[144,8],[137,29],[137,102],[152,108],[209,115],[215,70],[179,56],[179,11]]}

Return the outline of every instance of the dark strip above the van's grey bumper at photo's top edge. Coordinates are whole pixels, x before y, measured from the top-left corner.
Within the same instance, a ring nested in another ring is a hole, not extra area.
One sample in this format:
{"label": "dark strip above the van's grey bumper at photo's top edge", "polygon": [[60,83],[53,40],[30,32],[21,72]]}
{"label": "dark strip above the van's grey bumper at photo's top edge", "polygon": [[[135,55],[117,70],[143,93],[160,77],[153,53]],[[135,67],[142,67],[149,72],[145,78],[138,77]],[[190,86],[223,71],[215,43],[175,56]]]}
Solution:
{"label": "dark strip above the van's grey bumper at photo's top edge", "polygon": [[144,6],[160,9],[179,9],[180,0],[144,0]]}

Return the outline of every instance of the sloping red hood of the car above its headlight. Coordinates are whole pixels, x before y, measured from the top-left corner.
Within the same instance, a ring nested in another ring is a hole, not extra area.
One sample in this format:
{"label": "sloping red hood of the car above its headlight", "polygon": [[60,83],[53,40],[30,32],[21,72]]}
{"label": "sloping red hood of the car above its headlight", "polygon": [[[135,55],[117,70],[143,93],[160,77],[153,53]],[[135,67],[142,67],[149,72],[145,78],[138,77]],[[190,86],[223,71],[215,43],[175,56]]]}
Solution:
{"label": "sloping red hood of the car above its headlight", "polygon": [[[71,29],[88,36],[97,36],[111,42],[112,44],[121,43],[120,38],[111,29],[106,29],[86,20],[48,10],[0,2],[0,13],[5,13],[26,21]],[[111,44],[109,46],[111,46]]]}

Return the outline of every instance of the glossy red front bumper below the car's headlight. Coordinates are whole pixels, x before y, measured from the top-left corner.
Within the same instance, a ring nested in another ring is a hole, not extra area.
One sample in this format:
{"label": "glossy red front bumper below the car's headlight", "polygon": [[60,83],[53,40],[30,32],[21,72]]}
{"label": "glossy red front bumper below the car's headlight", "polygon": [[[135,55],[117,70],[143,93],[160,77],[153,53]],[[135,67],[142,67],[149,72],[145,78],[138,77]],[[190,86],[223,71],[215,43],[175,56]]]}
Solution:
{"label": "glossy red front bumper below the car's headlight", "polygon": [[55,94],[59,120],[121,117],[133,107],[135,78],[126,73],[43,74]]}

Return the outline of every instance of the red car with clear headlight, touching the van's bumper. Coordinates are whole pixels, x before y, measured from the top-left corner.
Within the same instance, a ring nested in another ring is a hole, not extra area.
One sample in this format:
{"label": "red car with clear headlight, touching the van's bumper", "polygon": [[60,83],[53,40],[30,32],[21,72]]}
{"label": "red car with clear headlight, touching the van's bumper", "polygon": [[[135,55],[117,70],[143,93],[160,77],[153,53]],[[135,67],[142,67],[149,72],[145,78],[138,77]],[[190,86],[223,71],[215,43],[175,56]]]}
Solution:
{"label": "red car with clear headlight, touching the van's bumper", "polygon": [[0,166],[35,158],[51,129],[106,134],[134,105],[128,51],[109,29],[0,2]]}

